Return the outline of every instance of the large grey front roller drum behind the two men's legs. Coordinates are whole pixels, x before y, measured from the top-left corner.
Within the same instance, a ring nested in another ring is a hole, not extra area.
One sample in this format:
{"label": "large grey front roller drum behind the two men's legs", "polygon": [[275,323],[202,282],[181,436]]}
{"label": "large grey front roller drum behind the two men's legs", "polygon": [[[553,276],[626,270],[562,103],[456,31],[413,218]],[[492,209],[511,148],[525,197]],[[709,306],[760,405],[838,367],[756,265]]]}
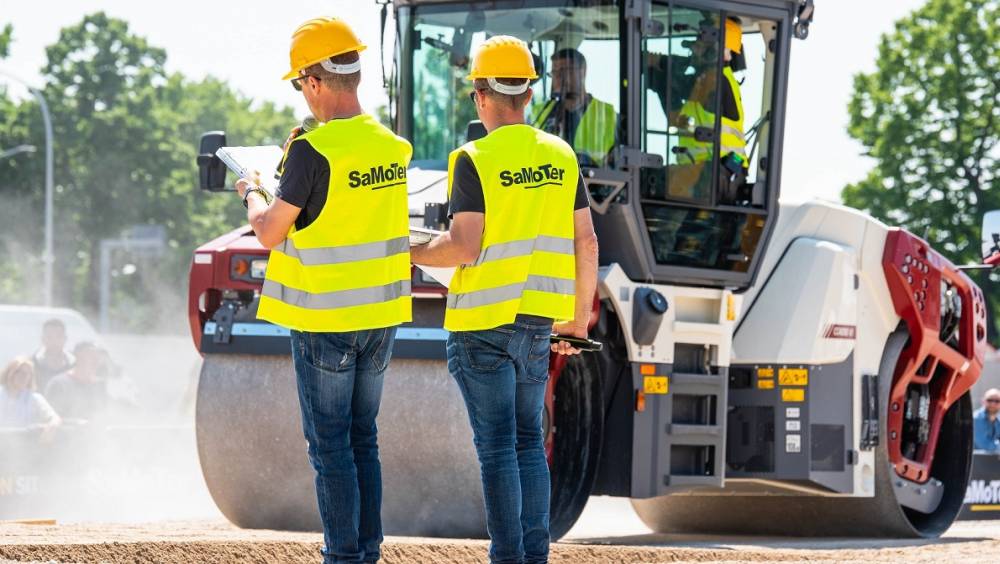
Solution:
{"label": "large grey front roller drum behind the two men's legs", "polygon": [[[230,521],[322,529],[290,356],[206,356],[196,414],[205,481]],[[445,363],[393,360],[378,427],[385,534],[484,536],[472,432]]]}

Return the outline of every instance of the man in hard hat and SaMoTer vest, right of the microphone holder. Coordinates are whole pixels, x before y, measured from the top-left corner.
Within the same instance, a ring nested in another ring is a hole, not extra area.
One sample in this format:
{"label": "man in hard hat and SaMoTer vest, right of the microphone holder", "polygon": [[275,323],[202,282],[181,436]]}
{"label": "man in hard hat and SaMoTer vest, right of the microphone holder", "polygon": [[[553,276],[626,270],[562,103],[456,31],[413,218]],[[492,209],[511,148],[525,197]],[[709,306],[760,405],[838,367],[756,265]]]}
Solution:
{"label": "man in hard hat and SaMoTer vest, right of the microphone holder", "polygon": [[[548,559],[549,338],[587,335],[597,285],[597,238],[576,155],[524,123],[535,77],[520,39],[495,36],[476,50],[468,78],[488,133],[449,156],[450,230],[411,250],[417,264],[458,266],[444,319],[448,370],[472,425],[492,562]],[[554,348],[579,352],[564,342]]]}

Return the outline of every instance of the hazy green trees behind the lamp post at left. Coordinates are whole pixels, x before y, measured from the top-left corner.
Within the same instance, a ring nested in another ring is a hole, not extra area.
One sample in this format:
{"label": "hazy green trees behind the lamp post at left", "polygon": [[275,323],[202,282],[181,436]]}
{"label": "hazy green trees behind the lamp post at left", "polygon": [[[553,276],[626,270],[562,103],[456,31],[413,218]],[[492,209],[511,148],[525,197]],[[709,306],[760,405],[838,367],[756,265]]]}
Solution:
{"label": "hazy green trees behind the lamp post at left", "polygon": [[[115,284],[116,303],[128,309],[120,316],[125,328],[162,328],[164,311],[184,310],[176,302],[185,299],[193,248],[245,222],[235,197],[198,190],[199,135],[225,129],[233,144],[278,143],[294,116],[216,79],[168,74],[162,49],[103,13],[63,29],[46,55],[43,93],[56,137],[56,302],[93,313],[100,241],[133,225],[162,225],[166,255]],[[42,147],[41,132],[34,101],[0,102],[0,147]],[[0,243],[0,263],[19,266],[14,283],[0,284],[0,301],[37,299],[43,161],[0,162],[0,222],[13,234]],[[173,307],[156,303],[164,299]],[[168,324],[182,327],[178,319]]]}

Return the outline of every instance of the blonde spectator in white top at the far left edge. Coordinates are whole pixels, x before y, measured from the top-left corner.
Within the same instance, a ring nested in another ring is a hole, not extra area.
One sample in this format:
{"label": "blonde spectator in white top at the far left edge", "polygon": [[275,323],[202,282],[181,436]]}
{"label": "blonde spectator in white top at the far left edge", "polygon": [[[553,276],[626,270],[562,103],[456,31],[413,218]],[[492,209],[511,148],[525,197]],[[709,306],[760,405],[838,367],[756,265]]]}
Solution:
{"label": "blonde spectator in white top at the far left edge", "polygon": [[49,402],[35,391],[35,367],[27,357],[17,357],[0,375],[0,427],[47,431],[61,423]]}

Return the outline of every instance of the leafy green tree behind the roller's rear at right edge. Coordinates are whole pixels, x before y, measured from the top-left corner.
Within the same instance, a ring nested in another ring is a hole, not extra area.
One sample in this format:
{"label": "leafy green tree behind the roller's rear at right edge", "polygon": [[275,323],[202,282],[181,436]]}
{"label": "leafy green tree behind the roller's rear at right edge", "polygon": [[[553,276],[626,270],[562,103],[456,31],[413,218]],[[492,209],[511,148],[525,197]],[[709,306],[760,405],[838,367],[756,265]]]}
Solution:
{"label": "leafy green tree behind the roller's rear at right edge", "polygon": [[[998,21],[997,0],[929,0],[882,37],[849,105],[850,135],[875,166],[844,202],[926,234],[957,264],[979,262],[982,215],[1000,208]],[[1000,293],[973,276],[996,327]]]}

